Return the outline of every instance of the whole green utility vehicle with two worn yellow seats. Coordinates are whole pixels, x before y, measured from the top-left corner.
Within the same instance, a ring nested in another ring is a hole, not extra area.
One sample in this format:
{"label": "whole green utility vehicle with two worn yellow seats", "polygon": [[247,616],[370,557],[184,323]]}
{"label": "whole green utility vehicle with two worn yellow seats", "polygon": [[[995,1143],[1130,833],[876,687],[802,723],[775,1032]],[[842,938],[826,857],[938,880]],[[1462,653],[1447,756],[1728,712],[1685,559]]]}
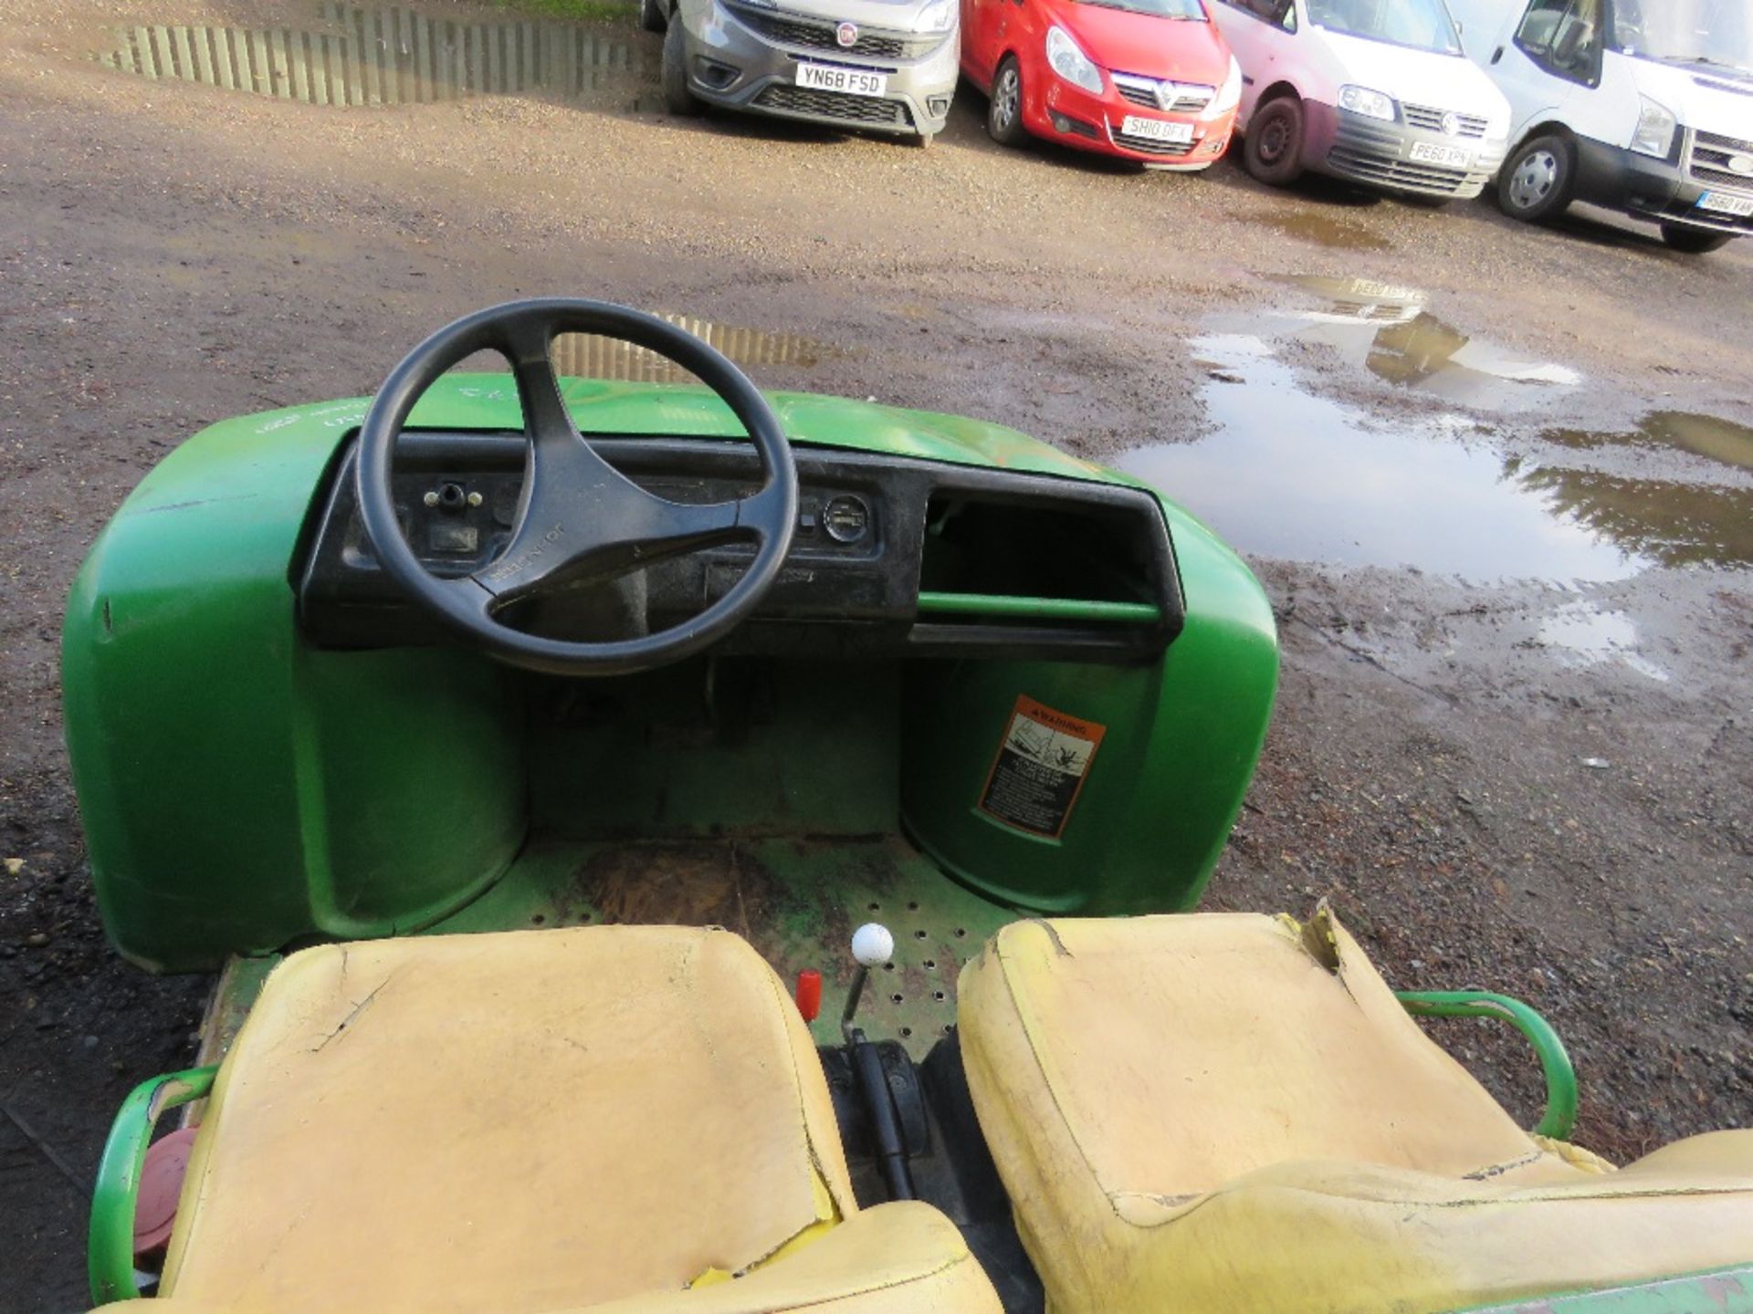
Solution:
{"label": "whole green utility vehicle with two worn yellow seats", "polygon": [[[703,385],[563,377],[573,333]],[[1185,915],[1276,673],[1162,494],[621,307],[196,434],[67,611],[105,927],[219,972],[117,1118],[93,1298],[1753,1307],[1753,1134],[1611,1174],[1525,1006]],[[1537,1132],[1413,1011],[1522,1027]]]}

